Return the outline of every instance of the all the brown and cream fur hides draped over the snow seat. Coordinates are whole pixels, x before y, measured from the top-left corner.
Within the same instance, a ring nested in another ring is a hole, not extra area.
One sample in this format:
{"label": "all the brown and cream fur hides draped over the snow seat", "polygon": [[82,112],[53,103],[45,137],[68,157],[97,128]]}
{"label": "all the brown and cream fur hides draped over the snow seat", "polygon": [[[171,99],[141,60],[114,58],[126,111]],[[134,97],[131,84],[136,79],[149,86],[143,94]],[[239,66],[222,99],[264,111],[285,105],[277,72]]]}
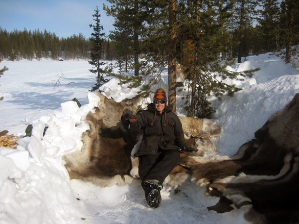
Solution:
{"label": "all the brown and cream fur hides draped over the snow seat", "polygon": [[[130,183],[138,178],[138,160],[131,153],[137,149],[142,133],[126,131],[120,118],[126,112],[134,114],[141,97],[117,103],[100,93],[98,96],[95,113],[86,116],[90,130],[82,135],[82,150],[65,156],[65,166],[71,179],[101,186]],[[182,154],[164,184],[178,187],[192,181],[206,187],[206,195],[220,197],[219,203],[208,209],[220,213],[249,205],[245,218],[254,223],[299,222],[299,94],[232,158],[216,153],[211,138],[221,133],[217,123],[180,119],[188,146],[198,152]]]}

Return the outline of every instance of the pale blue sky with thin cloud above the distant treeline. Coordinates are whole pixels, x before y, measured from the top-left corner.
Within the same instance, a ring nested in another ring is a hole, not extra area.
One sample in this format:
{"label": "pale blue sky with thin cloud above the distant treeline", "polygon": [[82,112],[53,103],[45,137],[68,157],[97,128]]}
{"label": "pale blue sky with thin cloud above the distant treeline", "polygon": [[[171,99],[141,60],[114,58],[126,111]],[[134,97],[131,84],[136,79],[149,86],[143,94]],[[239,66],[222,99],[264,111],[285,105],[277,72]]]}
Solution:
{"label": "pale blue sky with thin cloud above the distant treeline", "polygon": [[82,33],[86,38],[93,31],[93,14],[98,5],[100,23],[104,33],[113,30],[113,18],[106,16],[105,0],[0,0],[0,27],[8,32],[13,30],[44,31],[55,33],[58,37],[69,37]]}

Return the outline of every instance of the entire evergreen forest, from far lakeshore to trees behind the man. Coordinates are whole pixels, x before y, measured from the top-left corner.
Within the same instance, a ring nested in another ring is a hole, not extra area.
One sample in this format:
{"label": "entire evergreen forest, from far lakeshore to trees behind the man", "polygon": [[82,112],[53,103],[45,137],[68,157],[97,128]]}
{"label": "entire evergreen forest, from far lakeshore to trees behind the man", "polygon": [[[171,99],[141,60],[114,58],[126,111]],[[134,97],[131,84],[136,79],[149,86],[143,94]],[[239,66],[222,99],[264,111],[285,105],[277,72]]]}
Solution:
{"label": "entire evergreen forest, from far lakeshore to trees behind the man", "polygon": [[[233,72],[227,65],[251,55],[278,52],[282,60],[298,60],[299,2],[296,0],[107,0],[95,10],[91,38],[79,33],[59,38],[55,33],[7,32],[0,28],[0,60],[52,58],[87,59],[97,73],[94,90],[108,80],[111,69],[100,60],[116,60],[120,84],[141,87],[150,94],[168,66],[169,104],[175,108],[176,65],[189,81],[185,109],[188,116],[211,117],[208,96],[221,100],[239,91],[222,80],[250,77],[256,70]],[[114,30],[101,33],[101,13],[114,17]],[[122,76],[133,71],[134,76]],[[117,74],[111,74],[117,75]],[[144,85],[145,80],[150,84]]]}

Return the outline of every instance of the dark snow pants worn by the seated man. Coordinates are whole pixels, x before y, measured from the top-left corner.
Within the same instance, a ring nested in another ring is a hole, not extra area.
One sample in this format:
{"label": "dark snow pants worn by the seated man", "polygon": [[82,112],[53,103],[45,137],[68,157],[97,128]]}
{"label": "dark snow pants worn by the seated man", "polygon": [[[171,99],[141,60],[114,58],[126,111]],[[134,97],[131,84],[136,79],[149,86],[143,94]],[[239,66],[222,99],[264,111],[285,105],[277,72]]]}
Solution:
{"label": "dark snow pants worn by the seated man", "polygon": [[158,180],[162,184],[165,178],[178,164],[180,153],[177,150],[158,150],[157,155],[143,155],[139,157],[139,176],[141,185],[147,197],[151,189],[143,185],[144,180]]}

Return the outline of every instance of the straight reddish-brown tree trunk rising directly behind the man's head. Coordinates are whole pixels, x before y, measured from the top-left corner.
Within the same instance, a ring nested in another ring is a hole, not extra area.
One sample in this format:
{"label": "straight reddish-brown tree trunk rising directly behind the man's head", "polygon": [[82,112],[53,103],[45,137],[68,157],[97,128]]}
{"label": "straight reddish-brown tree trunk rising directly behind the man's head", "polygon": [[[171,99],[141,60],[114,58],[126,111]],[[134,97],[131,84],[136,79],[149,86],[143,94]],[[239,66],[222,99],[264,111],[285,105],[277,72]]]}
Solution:
{"label": "straight reddish-brown tree trunk rising directly behind the man's head", "polygon": [[176,111],[176,0],[169,0],[168,100]]}

